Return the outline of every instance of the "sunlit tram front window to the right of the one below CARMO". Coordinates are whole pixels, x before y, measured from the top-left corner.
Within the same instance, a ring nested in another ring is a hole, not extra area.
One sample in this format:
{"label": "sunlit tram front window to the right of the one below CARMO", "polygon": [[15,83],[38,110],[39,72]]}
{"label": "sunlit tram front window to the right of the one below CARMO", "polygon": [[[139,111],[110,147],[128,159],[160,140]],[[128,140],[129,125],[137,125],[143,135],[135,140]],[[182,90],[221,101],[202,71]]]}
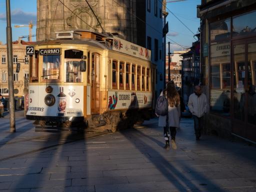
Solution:
{"label": "sunlit tram front window to the right of the one below CARMO", "polygon": [[68,60],[65,61],[65,65],[66,82],[81,82],[81,72],[79,70],[80,60]]}

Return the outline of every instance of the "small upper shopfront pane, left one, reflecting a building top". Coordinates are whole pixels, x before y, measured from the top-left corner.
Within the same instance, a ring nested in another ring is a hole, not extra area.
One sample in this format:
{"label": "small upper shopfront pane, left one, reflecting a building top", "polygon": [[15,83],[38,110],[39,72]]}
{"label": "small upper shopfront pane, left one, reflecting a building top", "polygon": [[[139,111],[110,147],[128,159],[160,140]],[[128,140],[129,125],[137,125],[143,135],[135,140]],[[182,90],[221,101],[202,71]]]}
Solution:
{"label": "small upper shopfront pane, left one, reflecting a building top", "polygon": [[210,23],[210,41],[230,39],[230,18]]}

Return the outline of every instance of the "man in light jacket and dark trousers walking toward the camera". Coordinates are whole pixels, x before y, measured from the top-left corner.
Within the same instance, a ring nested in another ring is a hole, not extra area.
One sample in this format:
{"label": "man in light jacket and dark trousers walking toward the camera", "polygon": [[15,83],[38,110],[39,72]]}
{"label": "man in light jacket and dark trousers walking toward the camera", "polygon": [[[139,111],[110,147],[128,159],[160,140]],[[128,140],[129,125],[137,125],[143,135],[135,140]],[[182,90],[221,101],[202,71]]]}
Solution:
{"label": "man in light jacket and dark trousers walking toward the camera", "polygon": [[205,94],[201,92],[201,87],[198,85],[194,87],[194,93],[190,94],[189,96],[188,108],[194,119],[194,132],[196,140],[199,140],[203,126],[203,115],[206,113],[207,109],[207,101]]}

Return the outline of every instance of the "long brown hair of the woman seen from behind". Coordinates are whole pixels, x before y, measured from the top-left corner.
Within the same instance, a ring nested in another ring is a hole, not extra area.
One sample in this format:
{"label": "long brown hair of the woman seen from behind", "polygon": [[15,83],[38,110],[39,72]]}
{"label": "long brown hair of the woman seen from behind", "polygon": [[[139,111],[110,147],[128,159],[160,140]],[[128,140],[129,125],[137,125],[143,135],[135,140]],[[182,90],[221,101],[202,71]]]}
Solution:
{"label": "long brown hair of the woman seen from behind", "polygon": [[164,94],[167,96],[169,106],[178,106],[180,103],[179,94],[176,90],[174,82],[171,80],[167,82]]}

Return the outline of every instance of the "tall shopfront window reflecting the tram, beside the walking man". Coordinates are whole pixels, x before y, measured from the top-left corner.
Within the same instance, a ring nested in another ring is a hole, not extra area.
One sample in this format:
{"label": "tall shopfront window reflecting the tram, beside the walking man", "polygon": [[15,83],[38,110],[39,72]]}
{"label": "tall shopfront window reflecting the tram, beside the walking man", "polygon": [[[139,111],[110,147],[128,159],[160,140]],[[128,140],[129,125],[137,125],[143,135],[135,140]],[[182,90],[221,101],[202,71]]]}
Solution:
{"label": "tall shopfront window reflecting the tram, beside the walking man", "polygon": [[230,42],[210,47],[210,111],[230,115]]}

